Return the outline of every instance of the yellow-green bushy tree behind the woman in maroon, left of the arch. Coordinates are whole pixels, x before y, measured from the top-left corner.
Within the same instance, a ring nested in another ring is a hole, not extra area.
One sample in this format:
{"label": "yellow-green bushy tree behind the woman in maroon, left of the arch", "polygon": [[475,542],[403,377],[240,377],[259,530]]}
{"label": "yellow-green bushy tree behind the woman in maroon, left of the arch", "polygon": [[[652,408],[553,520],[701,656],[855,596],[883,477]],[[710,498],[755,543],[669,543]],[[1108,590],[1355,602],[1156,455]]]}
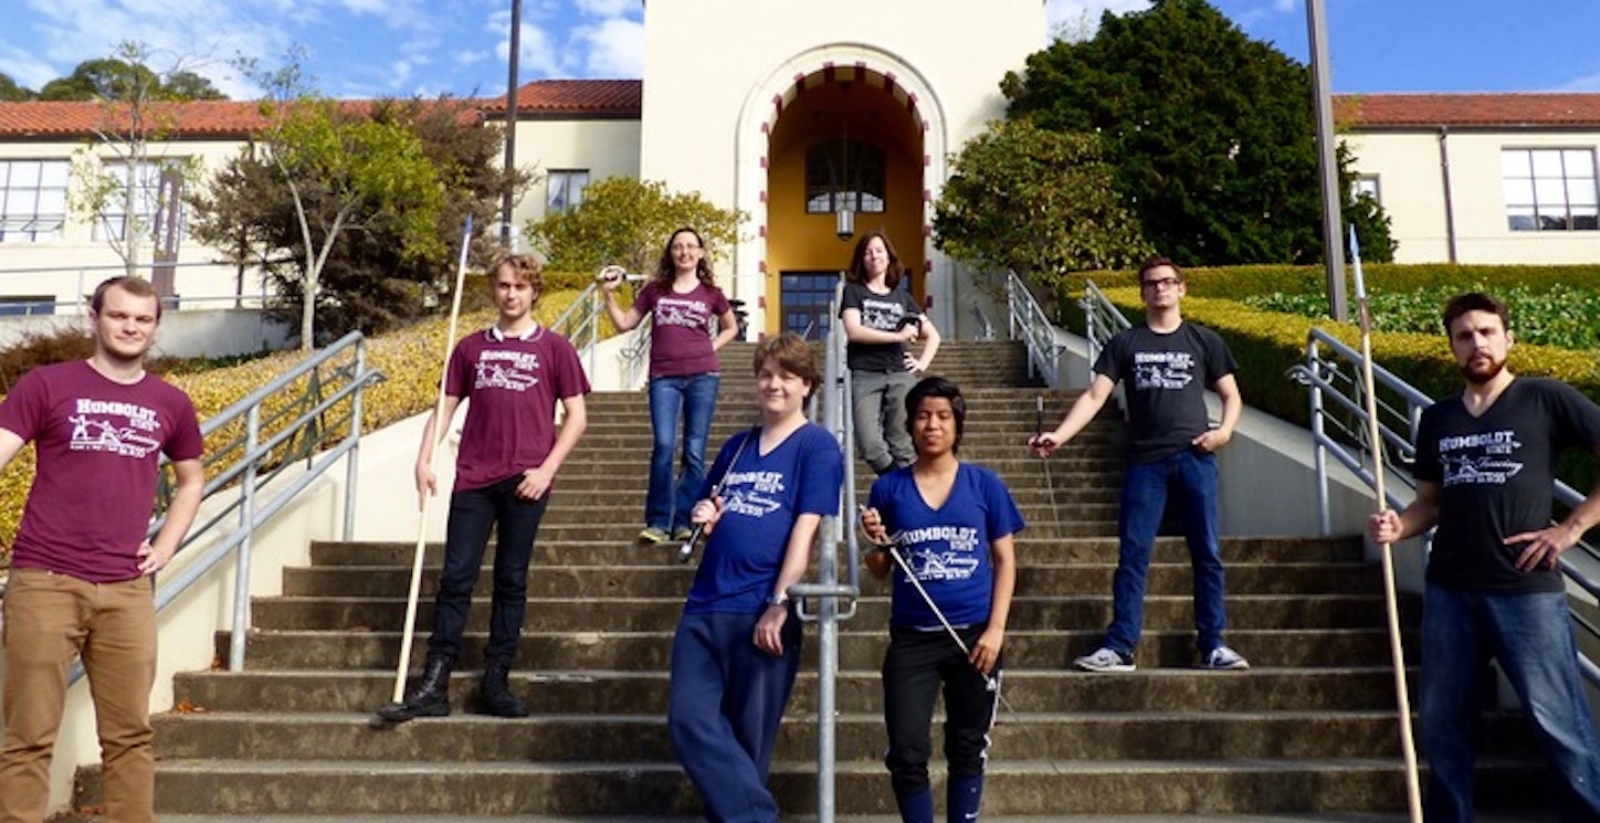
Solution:
{"label": "yellow-green bushy tree behind the woman in maroon, left of the arch", "polygon": [[693,227],[715,252],[739,241],[744,213],[718,208],[699,193],[667,192],[661,181],[608,177],[584,189],[576,208],[528,222],[528,238],[565,272],[622,265],[653,273],[674,230]]}

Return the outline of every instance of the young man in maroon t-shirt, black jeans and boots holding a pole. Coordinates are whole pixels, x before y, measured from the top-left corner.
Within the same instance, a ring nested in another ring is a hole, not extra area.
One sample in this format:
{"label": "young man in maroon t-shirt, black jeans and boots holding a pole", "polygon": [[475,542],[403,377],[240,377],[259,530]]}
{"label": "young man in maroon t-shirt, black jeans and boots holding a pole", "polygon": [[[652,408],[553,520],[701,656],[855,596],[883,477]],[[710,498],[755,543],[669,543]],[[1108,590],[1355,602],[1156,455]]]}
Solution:
{"label": "young man in maroon t-shirt, black jeans and boots holding a pole", "polygon": [[[528,609],[528,561],[539,519],[555,484],[555,471],[587,425],[584,374],[573,344],[533,320],[544,278],[539,262],[507,254],[490,276],[499,318],[456,344],[445,372],[440,417],[422,428],[416,459],[418,505],[438,494],[430,468],[434,444],[450,430],[462,400],[467,420],[456,454],[456,486],[445,526],[445,567],[434,599],[434,631],[416,689],[378,714],[390,722],[450,714],[450,671],[461,660],[462,634],[472,607],[490,527],[494,527],[494,593],[490,641],[483,647],[478,711],[525,718],[528,705],[510,692],[509,676]],[[555,404],[562,404],[560,433]]]}

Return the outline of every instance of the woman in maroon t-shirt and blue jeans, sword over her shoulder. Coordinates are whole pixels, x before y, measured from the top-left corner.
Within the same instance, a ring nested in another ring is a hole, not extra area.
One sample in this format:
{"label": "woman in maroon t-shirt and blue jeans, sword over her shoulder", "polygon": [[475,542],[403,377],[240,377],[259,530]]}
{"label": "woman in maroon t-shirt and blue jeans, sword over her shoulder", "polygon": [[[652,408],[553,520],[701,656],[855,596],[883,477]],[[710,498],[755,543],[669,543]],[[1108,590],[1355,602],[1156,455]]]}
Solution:
{"label": "woman in maroon t-shirt and blue jeans, sword over her shoulder", "polygon": [[[690,510],[706,483],[706,441],[717,411],[722,384],[717,350],[739,334],[728,297],[706,260],[706,241],[693,229],[667,238],[656,276],[624,310],[616,300],[621,272],[603,281],[605,310],[618,331],[630,331],[651,315],[650,332],[650,487],[645,492],[643,543],[688,540]],[[717,318],[717,336],[710,321]],[[683,417],[683,468],[674,484],[672,452],[677,451],[678,415]]]}

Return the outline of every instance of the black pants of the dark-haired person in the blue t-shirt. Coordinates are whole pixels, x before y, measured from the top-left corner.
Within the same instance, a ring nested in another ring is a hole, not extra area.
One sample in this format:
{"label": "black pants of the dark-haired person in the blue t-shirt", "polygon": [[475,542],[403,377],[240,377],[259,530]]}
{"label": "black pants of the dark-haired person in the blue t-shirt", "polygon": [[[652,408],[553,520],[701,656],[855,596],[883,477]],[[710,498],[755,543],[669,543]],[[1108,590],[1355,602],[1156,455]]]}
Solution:
{"label": "black pants of the dark-haired person in the blue t-shirt", "polygon": [[[955,631],[971,649],[984,628],[987,623]],[[942,628],[890,628],[890,650],[883,655],[883,722],[890,734],[890,749],[883,762],[890,767],[896,796],[928,786],[933,702],[941,684],[944,757],[950,764],[950,777],[984,773],[984,751],[989,748],[989,729],[1000,697],[1000,663],[992,673],[995,690],[990,690],[989,681],[973,668]]]}

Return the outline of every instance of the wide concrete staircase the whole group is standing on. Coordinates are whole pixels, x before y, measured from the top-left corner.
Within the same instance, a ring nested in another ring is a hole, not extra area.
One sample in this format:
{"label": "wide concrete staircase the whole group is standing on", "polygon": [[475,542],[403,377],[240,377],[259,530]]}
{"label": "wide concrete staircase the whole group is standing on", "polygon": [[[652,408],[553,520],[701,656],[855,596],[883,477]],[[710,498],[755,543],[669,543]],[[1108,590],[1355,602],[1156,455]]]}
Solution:
{"label": "wide concrete staircase the whole group is standing on", "polygon": [[[754,414],[750,348],[730,347],[723,360],[714,449]],[[994,732],[986,820],[1397,818],[1405,789],[1381,582],[1358,542],[1229,540],[1229,642],[1253,668],[1206,673],[1192,668],[1187,553],[1163,537],[1139,671],[1067,671],[1110,614],[1120,422],[1104,414],[1045,463],[1022,447],[1043,390],[1019,388],[1019,347],[947,344],[936,364],[968,392],[963,457],[998,470],[1027,518],[1006,642],[1011,711]],[[1069,401],[1048,393],[1046,425]],[[282,596],[254,601],[246,671],[178,678],[186,710],[157,719],[163,820],[698,813],[664,724],[672,630],[693,569],[677,564],[675,547],[634,543],[650,451],[645,395],[594,395],[589,408],[589,433],[562,471],[530,575],[512,686],[531,718],[467,713],[486,638],[485,578],[464,674],[451,687],[458,711],[371,729],[398,658],[411,545],[322,543],[310,567],[285,572]],[[858,475],[864,495],[870,471],[858,463]],[[438,555],[429,548],[413,660],[424,654]],[[877,674],[888,602],[885,588],[866,580],[840,649],[846,820],[893,813]],[[224,650],[227,634],[216,642]],[[814,660],[814,633],[806,644]],[[802,668],[771,778],[786,812],[800,818],[814,810],[814,671]],[[1520,719],[1494,714],[1486,734],[1482,802],[1528,805],[1541,778]],[[80,797],[98,801],[94,769],[80,775]]]}

